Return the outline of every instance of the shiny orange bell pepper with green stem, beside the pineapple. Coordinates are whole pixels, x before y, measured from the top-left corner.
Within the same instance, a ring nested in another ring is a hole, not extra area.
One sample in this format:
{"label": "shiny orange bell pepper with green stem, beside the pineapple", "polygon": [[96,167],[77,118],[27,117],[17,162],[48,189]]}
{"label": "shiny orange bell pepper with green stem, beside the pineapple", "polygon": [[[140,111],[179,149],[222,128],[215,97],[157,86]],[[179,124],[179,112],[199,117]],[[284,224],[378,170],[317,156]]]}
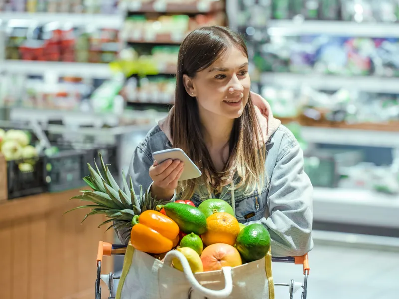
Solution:
{"label": "shiny orange bell pepper with green stem, beside the pineapple", "polygon": [[179,226],[175,221],[154,210],[135,215],[132,224],[130,242],[135,249],[146,253],[170,251],[179,234]]}

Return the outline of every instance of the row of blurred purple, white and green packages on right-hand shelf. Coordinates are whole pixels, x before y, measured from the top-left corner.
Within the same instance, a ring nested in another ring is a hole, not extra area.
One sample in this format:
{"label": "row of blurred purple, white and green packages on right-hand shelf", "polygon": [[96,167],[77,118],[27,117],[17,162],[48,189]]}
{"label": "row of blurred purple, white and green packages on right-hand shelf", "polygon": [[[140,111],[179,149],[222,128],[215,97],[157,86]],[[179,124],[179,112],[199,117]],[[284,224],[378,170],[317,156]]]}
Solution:
{"label": "row of blurred purple, white and green packages on right-hand shelf", "polygon": [[259,72],[399,76],[399,39],[395,38],[280,36],[254,48]]}

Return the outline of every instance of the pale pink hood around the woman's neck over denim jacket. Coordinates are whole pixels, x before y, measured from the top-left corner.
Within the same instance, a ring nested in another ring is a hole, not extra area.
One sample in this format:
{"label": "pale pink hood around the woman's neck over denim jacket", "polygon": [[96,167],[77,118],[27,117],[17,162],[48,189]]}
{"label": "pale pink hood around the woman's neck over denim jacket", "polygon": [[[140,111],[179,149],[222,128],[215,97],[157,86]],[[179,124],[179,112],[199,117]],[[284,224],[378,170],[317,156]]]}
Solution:
{"label": "pale pink hood around the woman's neck over denim jacket", "polygon": [[[262,138],[262,141],[266,143],[273,135],[273,133],[276,132],[281,124],[281,121],[273,117],[270,104],[264,98],[254,92],[251,92],[251,98],[253,104],[255,105],[256,115],[259,121],[259,127],[261,131],[260,136]],[[166,135],[170,143],[173,144],[170,123],[171,113],[168,113],[165,118],[161,119],[158,122],[158,125],[161,131]]]}

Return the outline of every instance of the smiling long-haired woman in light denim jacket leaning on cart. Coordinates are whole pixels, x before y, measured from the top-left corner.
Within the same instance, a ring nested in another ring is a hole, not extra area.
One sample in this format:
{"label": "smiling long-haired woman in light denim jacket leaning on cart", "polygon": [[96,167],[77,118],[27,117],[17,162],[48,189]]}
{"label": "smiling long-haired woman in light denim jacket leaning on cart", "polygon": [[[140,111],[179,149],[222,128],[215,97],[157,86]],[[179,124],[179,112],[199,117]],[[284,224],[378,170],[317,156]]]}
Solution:
{"label": "smiling long-haired woman in light denim jacket leaning on cart", "polygon": [[[191,32],[179,51],[175,105],[135,149],[129,174],[136,187],[164,201],[180,197],[198,206],[224,199],[239,222],[269,230],[273,255],[303,255],[313,246],[303,153],[250,87],[248,52],[238,34],[217,26]],[[183,149],[202,177],[178,183],[182,162],[152,159],[172,147]]]}

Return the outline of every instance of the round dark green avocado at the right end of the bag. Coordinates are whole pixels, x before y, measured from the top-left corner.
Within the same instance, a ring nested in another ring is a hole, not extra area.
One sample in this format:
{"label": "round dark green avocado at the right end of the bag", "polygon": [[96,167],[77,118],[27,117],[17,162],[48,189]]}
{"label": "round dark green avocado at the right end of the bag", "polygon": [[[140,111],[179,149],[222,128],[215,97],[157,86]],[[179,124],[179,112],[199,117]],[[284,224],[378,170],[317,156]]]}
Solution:
{"label": "round dark green avocado at the right end of the bag", "polygon": [[270,249],[270,234],[262,224],[250,224],[238,234],[235,248],[246,262],[260,260]]}

